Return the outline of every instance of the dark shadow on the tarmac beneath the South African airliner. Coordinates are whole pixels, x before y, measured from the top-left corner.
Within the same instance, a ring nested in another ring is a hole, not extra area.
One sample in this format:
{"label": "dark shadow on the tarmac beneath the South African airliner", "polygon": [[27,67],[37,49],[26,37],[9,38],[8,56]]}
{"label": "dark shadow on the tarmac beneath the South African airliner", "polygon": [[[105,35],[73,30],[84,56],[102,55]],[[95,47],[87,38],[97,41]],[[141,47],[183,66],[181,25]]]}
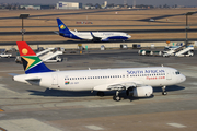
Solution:
{"label": "dark shadow on the tarmac beneath the South African airliner", "polygon": [[[183,86],[172,85],[166,87],[166,92],[173,92],[173,91],[181,91],[185,90]],[[35,90],[27,90],[27,92],[31,92],[30,95],[37,95],[37,96],[55,96],[55,97],[84,97],[84,96],[96,96],[97,92],[91,93],[90,91],[82,91],[82,92],[71,92],[71,91],[59,91],[59,90],[45,90],[45,91],[35,91]],[[154,93],[162,93],[161,87],[153,87]],[[112,92],[105,92],[105,96],[113,96],[115,95],[115,91]],[[130,99],[130,100],[138,100],[138,99],[147,99],[147,98],[153,98],[154,95],[150,97],[128,97],[126,96],[126,92],[121,92],[119,96],[123,99]]]}

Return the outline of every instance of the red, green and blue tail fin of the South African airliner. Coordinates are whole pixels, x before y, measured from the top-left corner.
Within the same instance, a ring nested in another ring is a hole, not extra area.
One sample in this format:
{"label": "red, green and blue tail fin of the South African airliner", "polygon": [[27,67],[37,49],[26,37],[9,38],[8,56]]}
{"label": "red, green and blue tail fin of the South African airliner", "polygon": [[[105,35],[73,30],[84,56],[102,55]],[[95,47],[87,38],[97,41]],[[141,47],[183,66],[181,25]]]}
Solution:
{"label": "red, green and blue tail fin of the South African airliner", "polygon": [[25,41],[16,41],[26,74],[51,72]]}

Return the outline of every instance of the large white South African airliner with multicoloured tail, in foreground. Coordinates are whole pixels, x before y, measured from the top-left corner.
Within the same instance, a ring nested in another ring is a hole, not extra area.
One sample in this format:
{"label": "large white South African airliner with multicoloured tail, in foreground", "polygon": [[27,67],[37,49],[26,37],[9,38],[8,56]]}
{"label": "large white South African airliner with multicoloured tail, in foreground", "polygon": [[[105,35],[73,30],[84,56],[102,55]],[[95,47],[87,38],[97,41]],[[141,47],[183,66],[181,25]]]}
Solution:
{"label": "large white South African airliner with multicoloured tail, in foreground", "polygon": [[176,69],[167,67],[123,68],[100,70],[53,71],[48,69],[25,41],[18,41],[26,74],[13,76],[14,81],[63,91],[116,91],[115,100],[120,100],[119,92],[134,97],[149,97],[153,86],[165,87],[184,82],[186,78]]}

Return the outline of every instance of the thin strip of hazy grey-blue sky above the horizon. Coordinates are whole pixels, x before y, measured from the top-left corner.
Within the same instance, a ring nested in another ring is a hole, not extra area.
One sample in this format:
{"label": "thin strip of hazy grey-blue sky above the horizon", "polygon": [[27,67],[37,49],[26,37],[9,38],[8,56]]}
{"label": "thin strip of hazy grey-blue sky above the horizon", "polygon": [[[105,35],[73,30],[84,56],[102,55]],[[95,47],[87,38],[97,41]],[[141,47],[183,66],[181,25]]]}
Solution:
{"label": "thin strip of hazy grey-blue sky above the horizon", "polygon": [[[55,4],[58,1],[66,1],[66,2],[82,2],[84,3],[104,3],[105,0],[0,0],[0,3],[38,3],[38,4]],[[106,0],[108,3],[119,4],[123,3],[124,0]],[[129,5],[132,4],[134,0],[127,0]],[[197,0],[136,0],[137,4],[151,4],[151,5],[160,5],[160,4],[169,4],[169,5],[197,5]]]}

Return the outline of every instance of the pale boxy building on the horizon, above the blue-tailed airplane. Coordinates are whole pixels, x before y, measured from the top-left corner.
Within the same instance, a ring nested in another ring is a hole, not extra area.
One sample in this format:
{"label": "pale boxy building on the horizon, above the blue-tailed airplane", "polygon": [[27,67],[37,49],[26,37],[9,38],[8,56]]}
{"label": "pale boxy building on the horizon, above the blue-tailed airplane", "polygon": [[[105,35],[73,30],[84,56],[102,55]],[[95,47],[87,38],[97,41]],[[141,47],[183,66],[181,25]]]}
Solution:
{"label": "pale boxy building on the horizon, above the blue-tailed airplane", "polygon": [[57,3],[57,9],[82,9],[82,3],[59,1]]}

